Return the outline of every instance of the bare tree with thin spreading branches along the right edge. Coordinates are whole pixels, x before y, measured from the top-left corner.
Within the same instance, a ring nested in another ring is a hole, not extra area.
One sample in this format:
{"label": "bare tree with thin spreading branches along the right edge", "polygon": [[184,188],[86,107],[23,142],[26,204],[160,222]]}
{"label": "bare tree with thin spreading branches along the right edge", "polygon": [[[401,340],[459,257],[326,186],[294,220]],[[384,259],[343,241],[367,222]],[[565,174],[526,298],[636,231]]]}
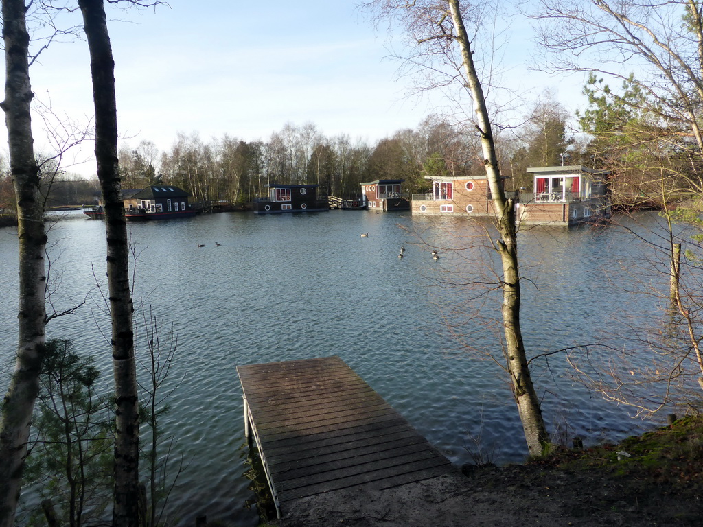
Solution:
{"label": "bare tree with thin spreading branches along the right edge", "polygon": [[[631,195],[662,207],[664,230],[654,233],[658,238],[652,245],[666,255],[668,280],[657,294],[669,320],[638,332],[646,336],[640,337],[645,349],[654,352],[654,365],[640,375],[609,367],[610,382],[602,376],[590,379],[607,397],[654,412],[675,400],[676,382],[697,379],[703,387],[701,237],[692,237],[681,262],[680,234],[675,232],[675,223],[693,229],[689,235],[703,226],[703,2],[543,0],[538,6],[533,16],[540,24],[546,68],[591,75],[586,86],[591,113],[581,123],[591,125],[588,131],[607,149],[601,152],[610,150],[603,159],[614,160],[620,165],[615,168],[636,182]],[[596,74],[621,79],[623,93],[601,86]],[[652,264],[661,266],[656,260]],[[662,391],[638,401],[636,387],[650,383]]]}

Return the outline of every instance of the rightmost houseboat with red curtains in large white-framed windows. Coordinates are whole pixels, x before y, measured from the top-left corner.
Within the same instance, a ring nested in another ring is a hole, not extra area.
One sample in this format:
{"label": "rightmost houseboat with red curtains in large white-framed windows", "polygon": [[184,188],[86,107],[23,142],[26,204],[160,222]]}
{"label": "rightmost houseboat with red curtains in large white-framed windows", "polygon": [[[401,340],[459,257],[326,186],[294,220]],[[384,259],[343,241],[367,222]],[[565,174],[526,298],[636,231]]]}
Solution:
{"label": "rightmost houseboat with red curtains in large white-framed windows", "polygon": [[581,165],[533,167],[533,192],[520,193],[515,217],[523,225],[563,225],[610,218],[608,171]]}

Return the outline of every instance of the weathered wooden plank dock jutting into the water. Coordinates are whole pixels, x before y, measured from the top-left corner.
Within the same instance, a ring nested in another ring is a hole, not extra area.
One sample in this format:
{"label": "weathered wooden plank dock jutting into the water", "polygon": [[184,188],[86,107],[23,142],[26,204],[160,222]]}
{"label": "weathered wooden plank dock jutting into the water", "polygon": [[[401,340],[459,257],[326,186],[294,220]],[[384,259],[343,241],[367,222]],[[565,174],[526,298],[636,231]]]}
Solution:
{"label": "weathered wooden plank dock jutting into the water", "polygon": [[331,490],[390,488],[456,469],[337,356],[238,366],[245,434],[278,516]]}

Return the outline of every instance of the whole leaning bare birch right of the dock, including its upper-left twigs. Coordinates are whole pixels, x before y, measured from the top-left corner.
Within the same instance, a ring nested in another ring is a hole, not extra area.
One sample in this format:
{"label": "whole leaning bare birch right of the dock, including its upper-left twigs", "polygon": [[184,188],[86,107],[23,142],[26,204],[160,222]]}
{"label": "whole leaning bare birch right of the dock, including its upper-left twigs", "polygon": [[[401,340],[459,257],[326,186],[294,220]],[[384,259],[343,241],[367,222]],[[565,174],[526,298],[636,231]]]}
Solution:
{"label": "whole leaning bare birch right of the dock, including its upper-left twigs", "polygon": [[413,65],[425,65],[429,70],[437,67],[449,70],[446,78],[465,86],[472,100],[472,123],[481,143],[483,166],[500,236],[495,248],[502,264],[499,287],[503,297],[505,370],[510,376],[529,453],[538,455],[543,452],[549,438],[532,384],[520,330],[520,268],[515,204],[505,195],[504,180],[498,167],[493,125],[475,63],[477,34],[471,39],[465,27],[465,20],[480,18],[487,6],[459,0],[378,0],[366,4],[366,7],[383,18],[397,22],[406,36],[414,41],[416,48],[411,51],[412,57],[409,59]]}

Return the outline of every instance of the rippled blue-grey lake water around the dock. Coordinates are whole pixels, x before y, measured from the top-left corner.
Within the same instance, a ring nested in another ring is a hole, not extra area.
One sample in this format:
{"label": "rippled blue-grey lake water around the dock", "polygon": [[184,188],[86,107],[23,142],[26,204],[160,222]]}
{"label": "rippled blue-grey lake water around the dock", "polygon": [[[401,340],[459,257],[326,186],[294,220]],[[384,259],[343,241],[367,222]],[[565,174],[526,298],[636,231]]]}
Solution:
{"label": "rippled blue-grey lake water around the dock", "polygon": [[[657,216],[639,219],[652,226]],[[338,355],[456,464],[471,460],[469,435],[480,436],[496,462],[527,455],[507,379],[472,353],[501,353],[491,323],[499,304],[486,304],[485,319],[467,319],[484,301],[475,290],[451,286],[466,273],[475,279],[493,257],[476,247],[472,237],[482,230],[475,223],[332,211],[216,214],[128,227],[136,244],[135,304],[150,306],[162,335],[171,325],[178,334],[169,382],[183,380],[164,424],[186,462],[171,502],[182,523],[207,514],[257,524],[244,508],[253,494],[243,477],[237,365]],[[75,349],[95,356],[108,382],[110,325],[96,287],[96,280],[105,287],[104,224],[67,214],[51,223],[49,240],[53,306],[84,298],[86,304],[51,321],[47,336],[72,339]],[[398,259],[401,245],[406,255]],[[432,247],[440,249],[437,262]],[[530,356],[605,337],[617,344],[610,336],[628,331],[624,315],[646,318],[657,307],[652,297],[623,287],[627,269],[652,249],[622,229],[535,228],[520,235],[520,252],[532,280],[524,282],[522,304]],[[16,347],[17,254],[17,230],[0,229],[3,391]],[[655,275],[647,280],[660,285]],[[144,348],[138,342],[138,353]],[[534,381],[552,431],[593,443],[643,426],[627,408],[573,382],[560,355],[541,362]]]}

